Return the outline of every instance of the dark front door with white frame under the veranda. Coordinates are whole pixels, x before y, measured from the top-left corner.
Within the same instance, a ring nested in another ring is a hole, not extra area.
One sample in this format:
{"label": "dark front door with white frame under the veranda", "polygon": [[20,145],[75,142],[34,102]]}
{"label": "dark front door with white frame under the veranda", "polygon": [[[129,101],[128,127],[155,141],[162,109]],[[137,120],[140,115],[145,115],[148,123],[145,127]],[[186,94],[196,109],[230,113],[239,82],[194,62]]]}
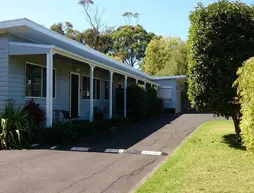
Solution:
{"label": "dark front door with white frame under the veranda", "polygon": [[71,117],[78,117],[79,107],[79,75],[71,74]]}

